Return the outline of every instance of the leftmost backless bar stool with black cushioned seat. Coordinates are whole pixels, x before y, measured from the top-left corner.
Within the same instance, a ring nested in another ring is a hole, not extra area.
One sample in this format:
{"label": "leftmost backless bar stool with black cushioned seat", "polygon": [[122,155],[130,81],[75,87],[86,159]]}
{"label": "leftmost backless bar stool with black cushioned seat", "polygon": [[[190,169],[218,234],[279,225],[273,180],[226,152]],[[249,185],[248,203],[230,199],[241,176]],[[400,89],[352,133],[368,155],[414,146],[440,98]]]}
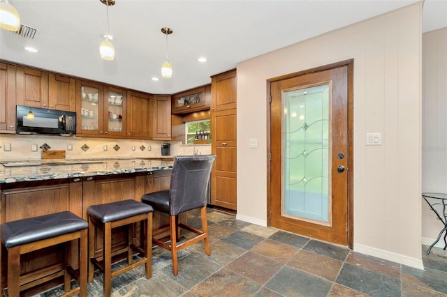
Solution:
{"label": "leftmost backless bar stool with black cushioned seat", "polygon": [[[7,284],[2,287],[8,287],[8,296],[20,296],[20,291],[62,275],[65,291],[62,296],[87,296],[87,227],[85,220],[69,211],[1,224],[1,243],[6,248],[8,264]],[[67,259],[74,240],[79,242],[79,271],[74,271]],[[43,268],[20,275],[20,255],[60,243],[64,243],[64,263],[59,271],[45,275]],[[71,289],[72,276],[78,278],[78,287],[74,289]]]}

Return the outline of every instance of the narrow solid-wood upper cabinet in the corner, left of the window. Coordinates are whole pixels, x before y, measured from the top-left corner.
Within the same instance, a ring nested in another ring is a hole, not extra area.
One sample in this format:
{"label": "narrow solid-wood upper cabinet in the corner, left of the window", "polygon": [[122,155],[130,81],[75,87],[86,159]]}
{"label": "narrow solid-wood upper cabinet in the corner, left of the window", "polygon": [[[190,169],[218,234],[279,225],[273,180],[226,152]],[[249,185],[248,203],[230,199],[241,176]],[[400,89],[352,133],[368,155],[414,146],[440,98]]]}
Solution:
{"label": "narrow solid-wood upper cabinet in the corner, left of the window", "polygon": [[152,97],[152,139],[171,139],[170,96]]}

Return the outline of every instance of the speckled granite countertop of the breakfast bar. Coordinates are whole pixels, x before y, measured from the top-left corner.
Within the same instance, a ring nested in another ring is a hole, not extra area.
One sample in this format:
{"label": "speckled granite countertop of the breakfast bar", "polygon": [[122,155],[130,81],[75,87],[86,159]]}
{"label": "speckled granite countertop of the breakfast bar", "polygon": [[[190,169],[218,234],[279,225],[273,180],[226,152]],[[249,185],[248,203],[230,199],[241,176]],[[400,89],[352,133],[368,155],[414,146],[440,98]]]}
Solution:
{"label": "speckled granite countertop of the breakfast bar", "polygon": [[162,158],[9,161],[0,164],[0,183],[154,172],[172,168],[173,161]]}

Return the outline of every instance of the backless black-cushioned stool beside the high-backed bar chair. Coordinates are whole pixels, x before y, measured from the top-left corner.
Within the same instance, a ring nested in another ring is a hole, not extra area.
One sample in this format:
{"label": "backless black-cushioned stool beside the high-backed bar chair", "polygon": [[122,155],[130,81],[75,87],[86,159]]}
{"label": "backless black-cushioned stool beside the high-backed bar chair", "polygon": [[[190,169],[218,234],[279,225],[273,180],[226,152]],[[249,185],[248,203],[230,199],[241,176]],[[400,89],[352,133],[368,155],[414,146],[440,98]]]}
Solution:
{"label": "backless black-cushioned stool beside the high-backed bar chair", "polygon": [[[110,296],[112,277],[121,275],[126,271],[145,264],[146,278],[152,277],[152,206],[135,200],[117,201],[108,204],[98,204],[87,208],[89,220],[89,282],[93,280],[94,267],[103,271],[103,295]],[[143,248],[133,243],[131,227],[136,222],[145,222],[142,226],[141,241]],[[112,229],[127,226],[127,246],[124,249],[112,252]],[[95,257],[95,231],[103,231],[103,254]],[[142,259],[133,263],[133,253],[140,252]],[[127,266],[112,271],[112,257],[127,253]]]}

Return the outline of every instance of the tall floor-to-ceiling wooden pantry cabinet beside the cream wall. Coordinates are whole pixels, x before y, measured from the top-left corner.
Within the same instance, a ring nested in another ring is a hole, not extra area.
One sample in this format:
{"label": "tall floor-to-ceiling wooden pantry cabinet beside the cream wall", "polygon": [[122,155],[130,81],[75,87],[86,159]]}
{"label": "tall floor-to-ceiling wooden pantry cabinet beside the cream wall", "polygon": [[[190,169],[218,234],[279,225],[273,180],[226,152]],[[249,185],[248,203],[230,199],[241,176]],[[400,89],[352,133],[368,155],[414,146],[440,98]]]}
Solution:
{"label": "tall floor-to-ceiling wooden pantry cabinet beside the cream wall", "polygon": [[236,70],[211,77],[211,204],[236,210]]}

